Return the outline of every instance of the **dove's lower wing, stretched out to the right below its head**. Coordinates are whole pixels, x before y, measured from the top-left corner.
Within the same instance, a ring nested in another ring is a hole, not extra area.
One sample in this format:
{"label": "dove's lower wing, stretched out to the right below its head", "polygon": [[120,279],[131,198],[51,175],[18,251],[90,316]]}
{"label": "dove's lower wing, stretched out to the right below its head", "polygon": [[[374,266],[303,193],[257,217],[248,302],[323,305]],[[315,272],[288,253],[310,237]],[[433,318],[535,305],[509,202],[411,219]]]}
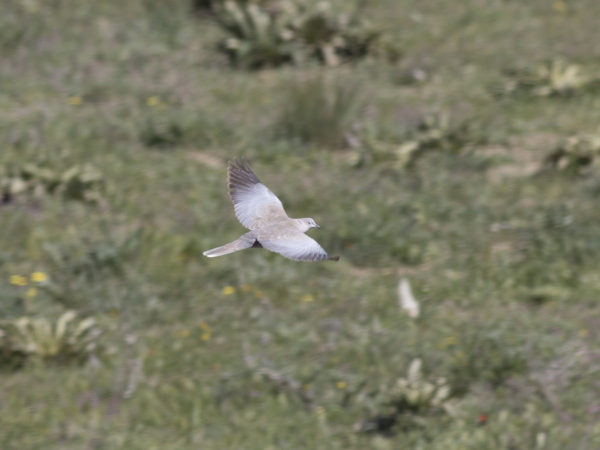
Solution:
{"label": "dove's lower wing, stretched out to the right below its head", "polygon": [[313,238],[300,232],[269,230],[259,236],[260,244],[267,250],[279,253],[294,261],[322,261],[330,259],[323,247]]}

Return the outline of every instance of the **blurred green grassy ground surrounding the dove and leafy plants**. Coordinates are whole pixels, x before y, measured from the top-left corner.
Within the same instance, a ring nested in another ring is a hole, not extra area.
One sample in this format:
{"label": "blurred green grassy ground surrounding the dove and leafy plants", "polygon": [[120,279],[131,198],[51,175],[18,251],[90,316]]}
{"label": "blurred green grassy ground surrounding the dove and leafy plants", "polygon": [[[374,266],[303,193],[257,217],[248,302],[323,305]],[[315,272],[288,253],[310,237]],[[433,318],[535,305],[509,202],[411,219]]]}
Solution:
{"label": "blurred green grassy ground surrounding the dove and leafy plants", "polygon": [[[597,132],[600,94],[498,94],[557,56],[599,73],[598,2],[370,1],[397,63],[254,72],[188,1],[2,10],[5,178],[102,178],[94,202],[39,182],[0,206],[0,319],[73,309],[101,331],[83,363],[0,353],[0,448],[600,448],[600,178],[535,175]],[[295,128],[340,86],[349,148]],[[402,164],[431,114],[445,140]],[[244,232],[225,182],[242,155],[340,262],[202,256]]]}

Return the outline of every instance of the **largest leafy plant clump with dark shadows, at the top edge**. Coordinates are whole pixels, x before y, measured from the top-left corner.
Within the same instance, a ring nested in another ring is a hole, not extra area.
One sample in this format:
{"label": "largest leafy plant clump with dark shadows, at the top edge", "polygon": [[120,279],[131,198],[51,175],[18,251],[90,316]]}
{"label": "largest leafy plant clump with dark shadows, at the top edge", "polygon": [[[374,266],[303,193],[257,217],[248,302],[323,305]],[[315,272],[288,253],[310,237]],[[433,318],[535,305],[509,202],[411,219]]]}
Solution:
{"label": "largest leafy plant clump with dark shadows, at the top edge", "polygon": [[328,8],[328,2],[314,7],[289,0],[265,5],[215,2],[215,18],[232,35],[218,48],[234,65],[250,69],[299,64],[307,59],[338,65],[367,55],[380,32],[365,26],[357,16],[332,16],[326,12]]}

